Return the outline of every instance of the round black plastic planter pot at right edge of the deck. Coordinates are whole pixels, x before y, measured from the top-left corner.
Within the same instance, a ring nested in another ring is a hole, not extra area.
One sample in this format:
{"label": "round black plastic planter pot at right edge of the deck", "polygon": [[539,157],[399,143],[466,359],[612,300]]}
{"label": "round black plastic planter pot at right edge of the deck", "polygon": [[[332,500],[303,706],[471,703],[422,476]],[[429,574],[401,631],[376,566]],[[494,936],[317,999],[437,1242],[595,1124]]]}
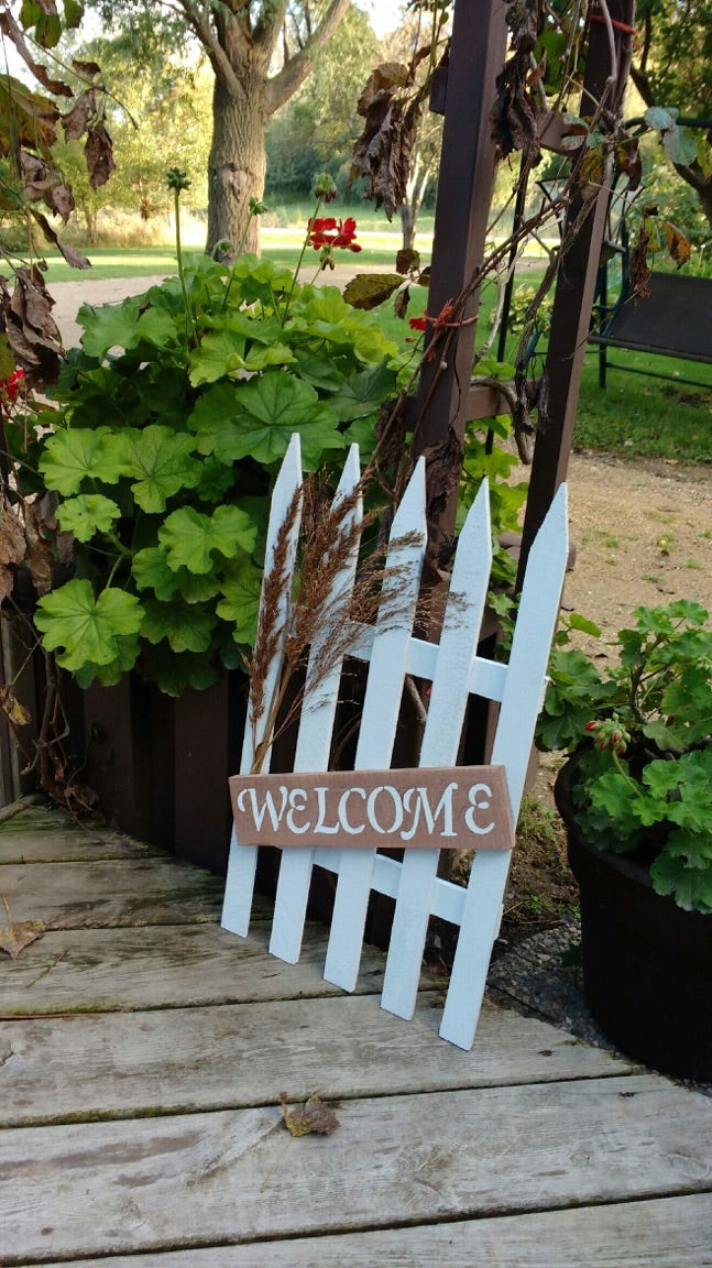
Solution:
{"label": "round black plastic planter pot at right edge of the deck", "polygon": [[570,770],[556,782],[580,889],[588,1007],[622,1052],[677,1078],[712,1080],[712,917],[683,912],[630,857],[573,823]]}

